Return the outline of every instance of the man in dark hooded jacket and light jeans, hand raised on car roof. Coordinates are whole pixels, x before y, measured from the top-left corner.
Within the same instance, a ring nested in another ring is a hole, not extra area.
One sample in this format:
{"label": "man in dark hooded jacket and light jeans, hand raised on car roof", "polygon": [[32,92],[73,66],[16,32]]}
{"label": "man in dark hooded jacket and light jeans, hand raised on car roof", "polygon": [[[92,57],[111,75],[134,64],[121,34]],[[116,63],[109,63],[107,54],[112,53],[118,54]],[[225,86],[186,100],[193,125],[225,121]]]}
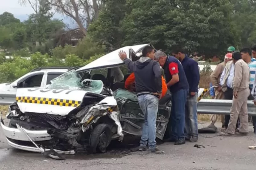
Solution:
{"label": "man in dark hooded jacket and light jeans, hand raised on car roof", "polygon": [[[135,62],[127,59],[123,51],[119,51],[119,57],[134,72],[135,88],[141,110],[144,113],[145,124],[140,139],[140,151],[149,153],[164,153],[157,148],[156,119],[158,112],[158,100],[162,95],[162,75],[159,62],[154,61],[154,48],[146,46],[142,51],[143,57]],[[148,143],[148,147],[147,147]]]}

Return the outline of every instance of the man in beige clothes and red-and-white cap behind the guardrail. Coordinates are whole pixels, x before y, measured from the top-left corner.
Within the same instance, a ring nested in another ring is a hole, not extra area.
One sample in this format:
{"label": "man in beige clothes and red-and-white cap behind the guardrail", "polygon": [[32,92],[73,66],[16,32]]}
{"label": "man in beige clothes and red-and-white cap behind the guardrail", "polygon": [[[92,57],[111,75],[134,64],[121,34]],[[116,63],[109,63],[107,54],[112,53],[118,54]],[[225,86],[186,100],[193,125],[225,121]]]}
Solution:
{"label": "man in beige clothes and red-and-white cap behind the guardrail", "polygon": [[[224,99],[224,94],[223,94],[223,91],[221,90],[220,79],[221,79],[221,74],[222,74],[227,62],[229,62],[231,60],[232,60],[232,53],[227,53],[225,55],[224,62],[219,63],[210,76],[212,85],[216,86],[214,88],[215,99]],[[217,121],[218,116],[221,117],[222,128],[224,128],[224,124],[225,124],[224,115],[216,115],[216,114],[211,115],[211,125],[209,125],[209,127],[215,126],[214,124]]]}

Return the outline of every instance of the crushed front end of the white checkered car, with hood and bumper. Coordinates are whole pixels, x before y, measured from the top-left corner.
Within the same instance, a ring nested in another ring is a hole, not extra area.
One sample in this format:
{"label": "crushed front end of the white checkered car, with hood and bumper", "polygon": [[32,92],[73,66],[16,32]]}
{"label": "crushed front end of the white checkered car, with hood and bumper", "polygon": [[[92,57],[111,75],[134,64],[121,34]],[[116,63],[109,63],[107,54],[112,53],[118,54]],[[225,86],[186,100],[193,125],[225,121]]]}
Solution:
{"label": "crushed front end of the white checkered car, with hood and bumper", "polygon": [[[9,125],[2,117],[0,124],[9,145],[32,152],[41,152],[37,146],[66,154],[104,152],[112,138],[123,138],[116,100],[95,91],[18,90],[6,117]],[[99,144],[103,132],[104,146]]]}

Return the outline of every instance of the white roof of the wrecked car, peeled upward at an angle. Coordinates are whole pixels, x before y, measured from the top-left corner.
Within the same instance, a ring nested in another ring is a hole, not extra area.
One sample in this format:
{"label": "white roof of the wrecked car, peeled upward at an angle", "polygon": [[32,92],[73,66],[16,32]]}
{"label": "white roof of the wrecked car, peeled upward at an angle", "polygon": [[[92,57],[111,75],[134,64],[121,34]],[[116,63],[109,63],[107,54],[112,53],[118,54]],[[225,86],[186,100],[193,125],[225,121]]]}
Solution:
{"label": "white roof of the wrecked car, peeled upward at an angle", "polygon": [[[118,53],[120,50],[125,51],[125,53],[127,54],[127,57],[131,59],[131,52],[135,53],[137,57],[140,57],[142,55],[142,49],[147,45],[151,45],[151,44],[140,44],[140,45],[126,46],[126,47],[119,48],[77,69],[77,71],[81,72],[81,71],[88,71],[92,69],[113,68],[119,65],[123,65],[124,62],[118,56]],[[153,47],[153,45],[151,46]]]}

